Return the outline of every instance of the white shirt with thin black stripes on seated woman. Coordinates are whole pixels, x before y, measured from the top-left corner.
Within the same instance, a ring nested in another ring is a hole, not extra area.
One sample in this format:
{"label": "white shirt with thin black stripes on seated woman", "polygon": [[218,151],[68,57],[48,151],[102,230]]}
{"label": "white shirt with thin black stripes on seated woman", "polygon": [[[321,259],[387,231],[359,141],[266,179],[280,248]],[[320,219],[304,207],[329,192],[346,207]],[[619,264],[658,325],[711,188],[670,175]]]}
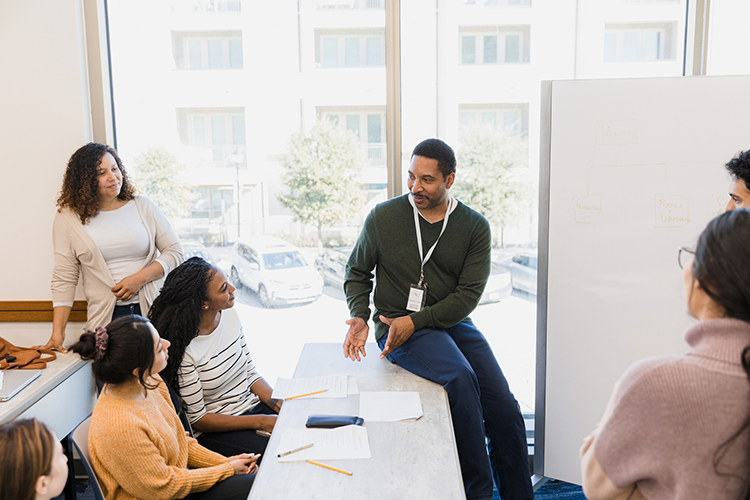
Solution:
{"label": "white shirt with thin black stripes on seated woman", "polygon": [[206,413],[241,415],[260,402],[250,387],[261,376],[234,309],[222,311],[219,326],[211,334],[190,342],[178,377],[190,423]]}

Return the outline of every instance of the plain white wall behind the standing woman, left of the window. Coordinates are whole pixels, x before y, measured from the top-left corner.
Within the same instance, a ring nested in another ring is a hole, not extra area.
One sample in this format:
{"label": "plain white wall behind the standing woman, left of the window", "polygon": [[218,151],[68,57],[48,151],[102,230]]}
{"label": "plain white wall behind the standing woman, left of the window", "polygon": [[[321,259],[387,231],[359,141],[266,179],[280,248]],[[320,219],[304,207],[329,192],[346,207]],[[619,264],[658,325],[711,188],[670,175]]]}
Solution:
{"label": "plain white wall behind the standing woman, left of the window", "polygon": [[[82,5],[0,2],[0,301],[52,298],[55,200],[92,137]],[[48,336],[51,323],[0,323],[8,330]]]}

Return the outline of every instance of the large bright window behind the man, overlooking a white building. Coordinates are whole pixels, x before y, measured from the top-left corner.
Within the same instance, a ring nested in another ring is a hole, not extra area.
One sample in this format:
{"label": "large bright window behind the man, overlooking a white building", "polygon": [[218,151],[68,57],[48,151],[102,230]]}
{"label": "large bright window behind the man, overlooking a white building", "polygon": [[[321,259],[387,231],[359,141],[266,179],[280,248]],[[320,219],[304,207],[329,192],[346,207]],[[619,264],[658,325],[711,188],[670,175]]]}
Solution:
{"label": "large bright window behind the man, overlooking a white building", "polygon": [[[711,74],[750,72],[744,4],[710,2]],[[526,264],[536,262],[538,239],[541,82],[682,75],[686,0],[401,0],[402,151],[390,176],[384,0],[107,5],[119,152],[144,193],[141,153],[165,152],[175,192],[187,193],[170,209],[174,227],[227,274],[242,265],[234,243],[260,235],[297,246],[322,269],[325,255],[353,245],[389,179],[404,178],[415,144],[451,144],[454,193],[493,230],[493,285],[472,318],[522,410],[533,411],[536,269]],[[316,156],[321,141],[346,159],[334,177]],[[299,206],[302,179],[333,186],[354,208],[322,189],[321,207],[340,217]],[[483,204],[481,190],[500,201]],[[272,383],[291,376],[303,343],[341,341],[348,310],[337,273],[324,272],[323,294],[302,305],[266,309],[257,285],[238,291],[254,360]],[[509,296],[496,286],[508,277]]]}

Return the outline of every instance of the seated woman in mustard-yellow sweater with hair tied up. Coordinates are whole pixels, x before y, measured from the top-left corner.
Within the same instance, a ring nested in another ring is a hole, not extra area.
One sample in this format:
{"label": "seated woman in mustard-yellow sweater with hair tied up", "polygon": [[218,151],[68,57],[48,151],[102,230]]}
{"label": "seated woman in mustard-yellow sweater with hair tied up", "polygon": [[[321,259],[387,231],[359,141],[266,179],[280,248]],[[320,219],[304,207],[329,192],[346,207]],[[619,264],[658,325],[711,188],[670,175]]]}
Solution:
{"label": "seated woman in mustard-yellow sweater with hair tied up", "polygon": [[91,465],[106,500],[245,500],[257,455],[229,458],[189,437],[158,372],[169,342],[141,316],[86,332],[71,347],[104,382],[89,430]]}

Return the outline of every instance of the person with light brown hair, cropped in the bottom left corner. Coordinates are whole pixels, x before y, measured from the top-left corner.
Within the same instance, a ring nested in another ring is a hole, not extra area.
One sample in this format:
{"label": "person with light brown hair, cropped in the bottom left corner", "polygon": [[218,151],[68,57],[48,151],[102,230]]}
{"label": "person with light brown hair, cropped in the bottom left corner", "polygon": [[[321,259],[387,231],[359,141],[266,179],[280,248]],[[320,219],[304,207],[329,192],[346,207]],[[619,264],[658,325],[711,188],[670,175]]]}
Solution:
{"label": "person with light brown hair, cropped in the bottom left corner", "polygon": [[55,433],[35,419],[0,426],[0,498],[48,500],[62,493],[68,457]]}

